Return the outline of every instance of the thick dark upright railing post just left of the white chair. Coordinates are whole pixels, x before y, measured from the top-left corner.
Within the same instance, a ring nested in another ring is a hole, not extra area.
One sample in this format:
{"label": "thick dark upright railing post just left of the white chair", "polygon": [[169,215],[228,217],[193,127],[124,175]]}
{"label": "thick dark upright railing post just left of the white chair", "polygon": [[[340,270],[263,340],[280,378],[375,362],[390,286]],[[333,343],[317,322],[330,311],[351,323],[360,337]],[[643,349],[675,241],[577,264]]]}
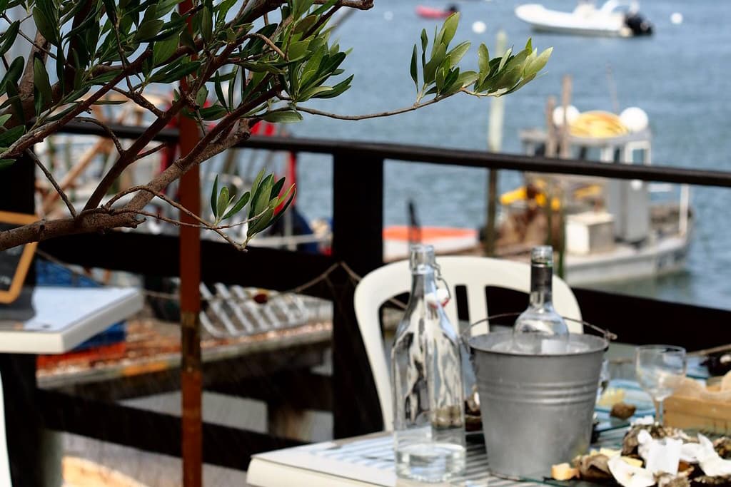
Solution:
{"label": "thick dark upright railing post just left of the white chair", "polygon": [[[341,156],[333,161],[333,256],[365,275],[383,264],[383,160]],[[366,348],[355,321],[354,285],[333,275],[333,436],[383,429]]]}

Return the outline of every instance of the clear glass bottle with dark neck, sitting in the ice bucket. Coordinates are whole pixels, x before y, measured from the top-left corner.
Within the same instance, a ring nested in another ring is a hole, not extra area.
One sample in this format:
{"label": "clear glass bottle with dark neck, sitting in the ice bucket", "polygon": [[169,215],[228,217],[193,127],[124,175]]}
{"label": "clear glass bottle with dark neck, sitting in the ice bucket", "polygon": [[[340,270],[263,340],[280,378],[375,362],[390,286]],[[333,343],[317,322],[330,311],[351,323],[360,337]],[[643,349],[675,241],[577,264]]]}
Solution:
{"label": "clear glass bottle with dark neck, sitting in the ice bucket", "polygon": [[553,309],[553,248],[550,245],[531,250],[531,294],[528,309],[513,328],[513,344],[520,353],[566,353],[569,328]]}

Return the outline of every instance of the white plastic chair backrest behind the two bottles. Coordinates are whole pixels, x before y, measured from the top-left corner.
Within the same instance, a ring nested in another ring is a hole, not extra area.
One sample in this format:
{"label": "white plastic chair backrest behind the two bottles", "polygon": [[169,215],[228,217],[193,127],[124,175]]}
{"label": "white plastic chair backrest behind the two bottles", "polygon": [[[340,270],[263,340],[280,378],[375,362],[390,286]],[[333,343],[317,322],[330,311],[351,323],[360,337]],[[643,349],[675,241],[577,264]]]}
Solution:
{"label": "white plastic chair backrest behind the two bottles", "polygon": [[[529,292],[531,286],[530,266],[521,262],[496,258],[444,256],[436,259],[442,269],[442,277],[450,285],[452,296],[455,287],[463,285],[467,291],[467,305],[471,321],[488,317],[485,288],[488,286]],[[363,345],[376,383],[383,424],[386,431],[393,429],[393,402],[391,397],[390,372],[383,346],[379,310],[388,299],[411,291],[409,261],[387,264],[369,272],[355,288],[355,317],[357,318]],[[553,304],[564,317],[581,319],[581,311],[571,288],[560,278],[553,277]],[[445,308],[447,317],[456,326],[457,305],[452,299]],[[569,321],[569,331],[581,333],[580,323]],[[487,331],[487,326],[475,327],[474,334]]]}

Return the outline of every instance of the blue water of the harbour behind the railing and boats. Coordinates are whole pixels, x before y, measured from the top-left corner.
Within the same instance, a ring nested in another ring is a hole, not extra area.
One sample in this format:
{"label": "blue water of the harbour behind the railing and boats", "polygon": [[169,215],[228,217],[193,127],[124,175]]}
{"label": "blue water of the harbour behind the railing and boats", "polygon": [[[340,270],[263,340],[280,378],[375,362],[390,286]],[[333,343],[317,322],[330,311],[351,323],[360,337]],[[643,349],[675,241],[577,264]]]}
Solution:
{"label": "blue water of the harbour behind the railing and boats", "polygon": [[[407,107],[414,102],[409,77],[412,45],[422,28],[433,32],[436,21],[417,17],[417,4],[444,7],[446,0],[376,0],[338,29],[341,45],[353,47],[345,68],[355,74],[353,87],[338,99],[317,101],[321,110],[358,114]],[[638,106],[648,112],[654,133],[654,164],[731,170],[731,2],[645,0],[641,12],[654,23],[648,38],[610,39],[531,32],[515,18],[519,1],[461,1],[461,26],[456,39],[469,39],[473,49],[463,66],[477,64],[476,47],[494,44],[504,28],[508,44],[522,47],[528,37],[542,49],[553,46],[545,75],[506,98],[503,150],[519,152],[518,130],[541,126],[545,100],[560,95],[561,77],[573,77],[573,104],[580,110],[612,110],[607,66],[613,72],[621,108]],[[572,9],[573,1],[545,1],[556,9]],[[386,20],[388,12],[393,20]],[[670,22],[673,12],[683,23]],[[471,24],[481,20],[484,34]],[[310,116],[290,126],[302,137],[334,137],[407,142],[483,150],[486,147],[490,101],[458,95],[418,112],[358,122]],[[300,208],[309,218],[331,215],[329,159],[303,156],[300,166]],[[366,169],[364,169],[366,170]],[[386,168],[386,223],[406,222],[406,201],[417,202],[424,224],[480,226],[485,214],[486,172],[390,162]],[[503,172],[501,191],[518,183]],[[696,212],[694,242],[686,272],[610,286],[616,291],[672,301],[731,308],[731,250],[727,245],[731,191],[693,188]],[[357,215],[354,215],[357,218]],[[725,272],[724,272],[725,271]]]}

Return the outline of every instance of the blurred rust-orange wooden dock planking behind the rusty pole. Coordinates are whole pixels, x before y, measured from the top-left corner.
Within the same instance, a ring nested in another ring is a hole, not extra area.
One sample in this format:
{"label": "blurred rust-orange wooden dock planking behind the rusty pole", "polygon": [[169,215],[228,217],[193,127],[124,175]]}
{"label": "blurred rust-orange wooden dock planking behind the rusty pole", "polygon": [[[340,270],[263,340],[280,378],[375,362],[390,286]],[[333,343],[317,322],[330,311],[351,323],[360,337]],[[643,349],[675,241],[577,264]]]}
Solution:
{"label": "blurred rust-orange wooden dock planking behind the rusty pole", "polygon": [[[96,399],[121,400],[179,388],[180,328],[154,321],[127,325],[124,356],[69,356],[39,369],[42,388],[58,388]],[[322,364],[330,327],[298,329],[202,342],[205,384],[238,383],[270,373]]]}

